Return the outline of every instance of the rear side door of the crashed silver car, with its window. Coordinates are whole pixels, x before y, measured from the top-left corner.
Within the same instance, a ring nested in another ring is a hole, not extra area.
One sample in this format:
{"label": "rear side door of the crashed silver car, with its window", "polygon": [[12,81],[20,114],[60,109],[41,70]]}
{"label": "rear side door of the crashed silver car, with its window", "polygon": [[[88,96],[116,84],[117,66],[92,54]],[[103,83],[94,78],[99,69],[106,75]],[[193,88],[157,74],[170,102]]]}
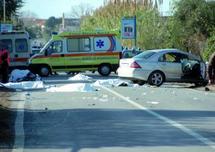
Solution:
{"label": "rear side door of the crashed silver car, with its window", "polygon": [[187,55],[176,52],[164,53],[159,58],[159,66],[166,75],[167,80],[180,80],[182,72],[181,61],[188,58]]}

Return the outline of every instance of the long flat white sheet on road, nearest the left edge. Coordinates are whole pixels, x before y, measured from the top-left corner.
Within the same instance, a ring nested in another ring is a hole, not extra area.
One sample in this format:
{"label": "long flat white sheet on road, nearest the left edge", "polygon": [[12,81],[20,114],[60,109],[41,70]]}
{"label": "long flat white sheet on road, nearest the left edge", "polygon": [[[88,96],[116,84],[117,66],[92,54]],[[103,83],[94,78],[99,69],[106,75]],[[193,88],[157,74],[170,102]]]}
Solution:
{"label": "long flat white sheet on road, nearest the left edge", "polygon": [[23,81],[16,83],[6,83],[5,87],[11,89],[20,89],[20,90],[34,90],[34,89],[44,89],[44,85],[42,81]]}

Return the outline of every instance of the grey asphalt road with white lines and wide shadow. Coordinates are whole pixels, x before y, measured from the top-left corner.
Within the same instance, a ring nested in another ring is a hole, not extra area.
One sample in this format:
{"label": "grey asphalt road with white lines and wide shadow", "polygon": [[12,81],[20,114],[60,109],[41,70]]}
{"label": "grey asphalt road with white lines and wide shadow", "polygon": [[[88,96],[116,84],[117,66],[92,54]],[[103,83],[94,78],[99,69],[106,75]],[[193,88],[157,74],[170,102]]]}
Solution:
{"label": "grey asphalt road with white lines and wide shadow", "polygon": [[214,98],[189,84],[0,92],[0,152],[213,152]]}

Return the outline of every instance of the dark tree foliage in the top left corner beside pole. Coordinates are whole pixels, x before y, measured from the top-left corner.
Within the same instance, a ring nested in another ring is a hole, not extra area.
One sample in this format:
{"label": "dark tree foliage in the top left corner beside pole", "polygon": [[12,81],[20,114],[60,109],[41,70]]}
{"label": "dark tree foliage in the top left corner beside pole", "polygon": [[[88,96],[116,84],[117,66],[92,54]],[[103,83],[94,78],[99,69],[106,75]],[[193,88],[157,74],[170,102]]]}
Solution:
{"label": "dark tree foliage in the top left corner beside pole", "polygon": [[[0,0],[0,20],[3,19],[3,0]],[[6,19],[10,20],[11,15],[17,15],[19,8],[23,6],[23,0],[5,0]]]}

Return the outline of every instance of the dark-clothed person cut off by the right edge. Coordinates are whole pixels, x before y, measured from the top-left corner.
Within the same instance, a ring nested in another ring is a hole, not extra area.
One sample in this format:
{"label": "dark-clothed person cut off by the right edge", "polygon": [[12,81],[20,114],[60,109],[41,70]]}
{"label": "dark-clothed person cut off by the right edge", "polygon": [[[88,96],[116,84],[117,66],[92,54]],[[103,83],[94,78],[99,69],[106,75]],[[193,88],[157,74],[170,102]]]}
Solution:
{"label": "dark-clothed person cut off by the right edge", "polygon": [[209,84],[214,84],[215,82],[215,52],[211,55],[208,63],[208,78]]}

